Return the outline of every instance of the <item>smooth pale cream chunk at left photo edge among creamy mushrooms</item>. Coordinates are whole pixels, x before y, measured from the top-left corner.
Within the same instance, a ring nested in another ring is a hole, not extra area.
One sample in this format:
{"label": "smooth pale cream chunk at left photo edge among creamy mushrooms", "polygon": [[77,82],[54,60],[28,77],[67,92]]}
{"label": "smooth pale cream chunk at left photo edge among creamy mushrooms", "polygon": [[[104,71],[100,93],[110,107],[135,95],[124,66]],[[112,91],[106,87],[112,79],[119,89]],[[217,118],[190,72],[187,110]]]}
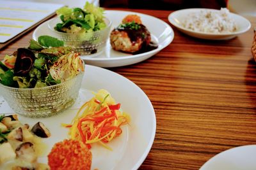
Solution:
{"label": "smooth pale cream chunk at left photo edge among creamy mushrooms", "polygon": [[8,160],[13,160],[16,157],[16,154],[10,145],[10,143],[3,143],[0,145],[0,165]]}

